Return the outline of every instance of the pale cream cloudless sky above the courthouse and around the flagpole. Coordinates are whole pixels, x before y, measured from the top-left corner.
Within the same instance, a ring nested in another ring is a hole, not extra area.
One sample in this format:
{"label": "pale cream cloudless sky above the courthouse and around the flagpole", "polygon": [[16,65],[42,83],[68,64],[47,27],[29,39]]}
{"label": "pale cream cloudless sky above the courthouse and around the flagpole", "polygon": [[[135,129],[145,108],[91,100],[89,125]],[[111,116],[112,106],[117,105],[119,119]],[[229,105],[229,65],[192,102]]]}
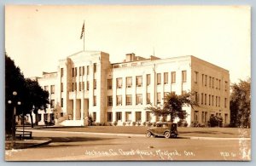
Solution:
{"label": "pale cream cloudless sky above the courthouse and around the flagpole", "polygon": [[58,60],[83,50],[162,59],[194,55],[230,71],[231,83],[251,77],[248,6],[7,5],[5,50],[25,77],[56,72]]}

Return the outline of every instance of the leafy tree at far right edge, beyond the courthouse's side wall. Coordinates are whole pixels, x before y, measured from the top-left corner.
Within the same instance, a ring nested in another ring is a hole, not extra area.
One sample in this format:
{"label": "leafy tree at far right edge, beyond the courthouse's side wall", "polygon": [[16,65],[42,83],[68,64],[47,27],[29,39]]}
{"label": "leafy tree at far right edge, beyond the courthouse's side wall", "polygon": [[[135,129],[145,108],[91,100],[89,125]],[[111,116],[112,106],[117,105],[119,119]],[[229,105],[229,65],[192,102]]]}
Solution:
{"label": "leafy tree at far right edge, beyond the courthouse's side wall", "polygon": [[230,126],[250,128],[251,126],[251,78],[240,80],[231,86]]}

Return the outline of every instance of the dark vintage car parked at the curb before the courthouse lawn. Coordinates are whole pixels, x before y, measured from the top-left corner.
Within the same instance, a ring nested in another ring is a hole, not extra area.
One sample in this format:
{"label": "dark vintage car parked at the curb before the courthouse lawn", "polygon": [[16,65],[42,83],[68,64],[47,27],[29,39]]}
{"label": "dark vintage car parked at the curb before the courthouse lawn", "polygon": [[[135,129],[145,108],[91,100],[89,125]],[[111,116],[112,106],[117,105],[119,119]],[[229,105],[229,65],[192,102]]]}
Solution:
{"label": "dark vintage car parked at the curb before the courthouse lawn", "polygon": [[156,123],[155,127],[151,127],[146,132],[146,137],[165,136],[166,138],[177,137],[177,123]]}

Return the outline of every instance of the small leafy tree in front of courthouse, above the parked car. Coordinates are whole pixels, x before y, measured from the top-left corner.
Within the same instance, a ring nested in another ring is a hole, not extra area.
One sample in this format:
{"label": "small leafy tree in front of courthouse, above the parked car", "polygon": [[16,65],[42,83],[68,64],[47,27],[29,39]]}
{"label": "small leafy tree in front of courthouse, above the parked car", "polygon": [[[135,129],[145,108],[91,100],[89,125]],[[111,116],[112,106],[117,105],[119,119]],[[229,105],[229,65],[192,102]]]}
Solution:
{"label": "small leafy tree in front of courthouse, above the parked car", "polygon": [[195,102],[195,93],[185,93],[181,95],[177,95],[175,93],[167,94],[165,96],[164,106],[149,106],[146,107],[145,110],[150,110],[151,113],[158,116],[171,116],[171,122],[176,117],[180,119],[184,119],[187,117],[187,112],[183,112],[182,107],[185,106],[198,106]]}

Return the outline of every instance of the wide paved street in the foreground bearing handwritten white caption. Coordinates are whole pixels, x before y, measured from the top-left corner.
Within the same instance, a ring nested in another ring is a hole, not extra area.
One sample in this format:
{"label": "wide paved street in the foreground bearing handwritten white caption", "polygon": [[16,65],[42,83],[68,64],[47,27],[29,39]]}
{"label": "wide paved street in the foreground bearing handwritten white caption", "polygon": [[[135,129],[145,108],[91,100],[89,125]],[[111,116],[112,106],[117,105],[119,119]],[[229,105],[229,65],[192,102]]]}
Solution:
{"label": "wide paved street in the foreground bearing handwritten white caption", "polygon": [[6,151],[9,161],[247,160],[250,140],[189,140],[34,132],[47,146]]}

